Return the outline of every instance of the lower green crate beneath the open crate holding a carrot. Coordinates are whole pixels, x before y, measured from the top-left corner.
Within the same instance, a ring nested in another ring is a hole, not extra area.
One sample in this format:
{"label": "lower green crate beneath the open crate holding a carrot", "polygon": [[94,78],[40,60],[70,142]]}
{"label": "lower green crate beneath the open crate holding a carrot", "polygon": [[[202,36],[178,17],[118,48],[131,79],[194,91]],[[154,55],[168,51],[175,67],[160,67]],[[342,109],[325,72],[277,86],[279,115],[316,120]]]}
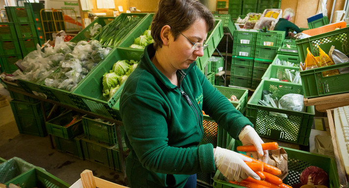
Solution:
{"label": "lower green crate beneath the open crate holding a carrot", "polygon": [[58,136],[53,136],[56,149],[62,153],[84,159],[82,154],[81,139],[83,135],[75,136],[71,139],[65,139]]}

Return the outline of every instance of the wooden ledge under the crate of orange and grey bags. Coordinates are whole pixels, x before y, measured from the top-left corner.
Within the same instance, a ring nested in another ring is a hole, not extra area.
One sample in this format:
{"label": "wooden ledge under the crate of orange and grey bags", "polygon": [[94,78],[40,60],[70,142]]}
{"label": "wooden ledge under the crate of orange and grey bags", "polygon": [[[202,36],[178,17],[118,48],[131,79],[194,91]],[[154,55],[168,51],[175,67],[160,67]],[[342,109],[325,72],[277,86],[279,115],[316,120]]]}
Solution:
{"label": "wooden ledge under the crate of orange and grey bags", "polygon": [[304,98],[303,102],[305,106],[315,106],[316,110],[326,112],[326,109],[348,106],[349,93],[328,95],[311,99]]}

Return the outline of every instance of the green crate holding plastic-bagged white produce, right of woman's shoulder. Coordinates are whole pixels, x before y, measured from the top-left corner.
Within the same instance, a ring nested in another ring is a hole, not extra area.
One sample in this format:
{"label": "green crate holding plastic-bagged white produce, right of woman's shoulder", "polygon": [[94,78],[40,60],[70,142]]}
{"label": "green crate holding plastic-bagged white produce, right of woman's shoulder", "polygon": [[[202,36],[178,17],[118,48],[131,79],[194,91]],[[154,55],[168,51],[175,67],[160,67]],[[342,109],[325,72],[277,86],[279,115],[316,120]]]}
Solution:
{"label": "green crate holding plastic-bagged white produce, right of woman's shoulder", "polygon": [[[300,112],[258,105],[263,90],[272,92],[273,98],[280,99],[289,93],[303,95],[302,86],[290,82],[282,82],[281,85],[280,81],[262,80],[249,99],[246,117],[260,136],[308,145],[315,115],[314,106],[305,107],[306,112]],[[271,112],[286,114],[287,118],[276,116]]]}

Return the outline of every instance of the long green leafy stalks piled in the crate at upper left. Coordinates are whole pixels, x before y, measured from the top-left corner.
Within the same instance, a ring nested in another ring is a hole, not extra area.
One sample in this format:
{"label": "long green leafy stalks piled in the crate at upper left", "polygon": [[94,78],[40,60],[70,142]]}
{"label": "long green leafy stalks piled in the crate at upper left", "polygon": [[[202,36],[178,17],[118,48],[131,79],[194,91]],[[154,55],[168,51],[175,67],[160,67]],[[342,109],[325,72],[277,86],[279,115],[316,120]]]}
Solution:
{"label": "long green leafy stalks piled in the crate at upper left", "polygon": [[100,31],[98,40],[106,46],[118,46],[125,36],[142,20],[139,16],[116,18]]}

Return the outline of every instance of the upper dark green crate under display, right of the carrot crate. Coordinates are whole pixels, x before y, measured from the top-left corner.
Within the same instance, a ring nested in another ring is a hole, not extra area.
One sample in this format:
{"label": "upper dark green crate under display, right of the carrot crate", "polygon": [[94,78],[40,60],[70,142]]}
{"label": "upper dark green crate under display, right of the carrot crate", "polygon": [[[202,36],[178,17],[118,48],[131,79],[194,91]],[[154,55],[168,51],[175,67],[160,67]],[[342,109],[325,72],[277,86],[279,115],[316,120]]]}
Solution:
{"label": "upper dark green crate under display, right of the carrot crate", "polygon": [[[95,117],[84,115],[82,116],[82,125],[84,134],[88,139],[108,144],[117,144],[116,128],[114,123],[101,122]],[[120,128],[124,129],[123,126]],[[123,131],[121,131],[123,134]]]}

